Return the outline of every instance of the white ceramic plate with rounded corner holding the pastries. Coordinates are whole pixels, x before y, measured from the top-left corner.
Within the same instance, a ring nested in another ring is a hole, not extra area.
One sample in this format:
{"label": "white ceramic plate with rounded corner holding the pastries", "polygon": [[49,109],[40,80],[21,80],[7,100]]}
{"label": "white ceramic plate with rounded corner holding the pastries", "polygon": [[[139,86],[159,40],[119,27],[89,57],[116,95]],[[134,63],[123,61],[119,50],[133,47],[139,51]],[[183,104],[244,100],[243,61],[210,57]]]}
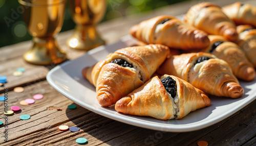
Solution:
{"label": "white ceramic plate with rounded corner holding the pastries", "polygon": [[134,45],[136,42],[131,36],[126,36],[115,44],[99,46],[80,58],[65,62],[50,70],[47,81],[73,102],[97,114],[126,124],[167,132],[195,131],[216,124],[248,105],[256,97],[256,80],[254,79],[252,82],[240,81],[244,88],[242,98],[211,96],[209,107],[191,112],[182,119],[158,120],[151,117],[121,114],[115,111],[114,106],[101,107],[96,99],[95,87],[81,75],[82,68],[91,66],[105,59],[109,53]]}

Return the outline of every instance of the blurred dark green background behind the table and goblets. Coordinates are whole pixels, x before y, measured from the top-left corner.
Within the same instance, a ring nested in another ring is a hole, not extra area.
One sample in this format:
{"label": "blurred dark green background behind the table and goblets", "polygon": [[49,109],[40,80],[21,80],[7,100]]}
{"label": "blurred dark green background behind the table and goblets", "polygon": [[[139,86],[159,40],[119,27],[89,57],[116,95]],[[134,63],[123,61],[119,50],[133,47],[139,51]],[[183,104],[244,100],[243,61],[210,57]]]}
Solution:
{"label": "blurred dark green background behind the table and goblets", "polygon": [[[189,0],[108,0],[106,13],[102,21],[125,17],[126,15],[148,12],[156,8],[183,1]],[[16,0],[0,0],[0,47],[31,39],[25,22],[23,22],[22,14],[17,13],[18,7],[19,4]],[[16,14],[15,20],[11,17],[13,13]],[[75,23],[71,18],[67,5],[65,20],[60,32],[74,29],[74,26]]]}

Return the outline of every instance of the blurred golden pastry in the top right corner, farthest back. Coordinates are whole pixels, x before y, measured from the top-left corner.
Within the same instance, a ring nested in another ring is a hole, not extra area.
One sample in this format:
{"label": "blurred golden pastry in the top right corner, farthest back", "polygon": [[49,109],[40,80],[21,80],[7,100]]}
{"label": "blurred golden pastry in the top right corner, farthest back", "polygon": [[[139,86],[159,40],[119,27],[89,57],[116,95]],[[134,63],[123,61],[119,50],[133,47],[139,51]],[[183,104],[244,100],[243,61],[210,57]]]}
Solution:
{"label": "blurred golden pastry in the top right corner, farthest back", "polygon": [[252,25],[256,27],[256,7],[250,4],[236,2],[222,8],[223,12],[236,25]]}

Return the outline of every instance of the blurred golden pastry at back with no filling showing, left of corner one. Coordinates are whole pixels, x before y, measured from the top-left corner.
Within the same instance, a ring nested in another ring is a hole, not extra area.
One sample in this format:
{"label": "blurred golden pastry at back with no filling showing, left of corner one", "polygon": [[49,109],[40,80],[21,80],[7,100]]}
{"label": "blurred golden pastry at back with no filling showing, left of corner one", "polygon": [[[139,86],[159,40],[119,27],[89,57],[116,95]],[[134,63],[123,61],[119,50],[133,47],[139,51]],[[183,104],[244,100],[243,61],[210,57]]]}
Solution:
{"label": "blurred golden pastry at back with no filling showing, left of corner one", "polygon": [[184,16],[184,21],[208,34],[221,35],[230,41],[238,39],[236,25],[216,4],[204,2],[192,6]]}

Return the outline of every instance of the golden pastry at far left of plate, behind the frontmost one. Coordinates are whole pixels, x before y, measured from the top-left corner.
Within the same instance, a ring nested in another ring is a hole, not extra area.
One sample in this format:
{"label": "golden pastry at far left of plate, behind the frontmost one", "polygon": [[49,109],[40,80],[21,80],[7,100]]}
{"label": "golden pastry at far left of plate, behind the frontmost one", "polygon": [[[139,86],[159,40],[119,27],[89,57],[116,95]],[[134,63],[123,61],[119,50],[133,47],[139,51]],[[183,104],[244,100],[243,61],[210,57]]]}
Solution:
{"label": "golden pastry at far left of plate, behind the frontmost one", "polygon": [[148,81],[168,55],[169,48],[160,44],[126,47],[84,68],[82,75],[96,87],[99,104],[107,107]]}

